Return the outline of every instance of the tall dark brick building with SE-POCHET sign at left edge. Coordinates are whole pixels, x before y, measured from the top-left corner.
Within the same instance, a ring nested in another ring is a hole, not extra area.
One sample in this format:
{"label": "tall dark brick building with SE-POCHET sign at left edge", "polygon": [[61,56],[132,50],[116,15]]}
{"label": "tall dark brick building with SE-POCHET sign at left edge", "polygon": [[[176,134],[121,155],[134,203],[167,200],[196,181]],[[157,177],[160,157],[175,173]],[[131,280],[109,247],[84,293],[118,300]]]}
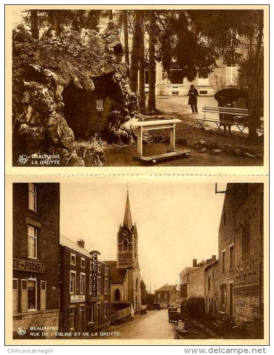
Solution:
{"label": "tall dark brick building with SE-POCHET sign at left edge", "polygon": [[[13,334],[59,328],[59,183],[13,184]],[[19,336],[22,338],[22,336]]]}

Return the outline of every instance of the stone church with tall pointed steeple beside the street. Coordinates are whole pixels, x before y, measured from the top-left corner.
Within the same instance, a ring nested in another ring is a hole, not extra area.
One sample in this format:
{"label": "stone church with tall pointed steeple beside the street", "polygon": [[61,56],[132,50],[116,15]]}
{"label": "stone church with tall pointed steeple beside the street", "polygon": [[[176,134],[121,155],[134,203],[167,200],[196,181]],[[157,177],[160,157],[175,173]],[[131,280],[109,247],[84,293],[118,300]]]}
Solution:
{"label": "stone church with tall pointed steeple beside the street", "polygon": [[141,276],[138,264],[138,233],[133,225],[127,193],[123,224],[117,234],[117,260],[105,261],[112,268],[111,302],[113,309],[131,303],[135,312],[141,309]]}

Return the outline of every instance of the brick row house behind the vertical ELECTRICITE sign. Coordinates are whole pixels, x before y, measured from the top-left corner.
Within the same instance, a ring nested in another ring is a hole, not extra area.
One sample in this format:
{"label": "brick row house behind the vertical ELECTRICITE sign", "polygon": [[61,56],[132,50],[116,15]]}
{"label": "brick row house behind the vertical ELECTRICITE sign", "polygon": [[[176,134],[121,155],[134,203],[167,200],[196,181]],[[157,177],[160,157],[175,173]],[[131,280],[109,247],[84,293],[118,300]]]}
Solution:
{"label": "brick row house behind the vertical ELECTRICITE sign", "polygon": [[98,260],[97,297],[92,297],[92,257],[84,240],[60,235],[60,330],[89,332],[110,320],[111,268]]}

